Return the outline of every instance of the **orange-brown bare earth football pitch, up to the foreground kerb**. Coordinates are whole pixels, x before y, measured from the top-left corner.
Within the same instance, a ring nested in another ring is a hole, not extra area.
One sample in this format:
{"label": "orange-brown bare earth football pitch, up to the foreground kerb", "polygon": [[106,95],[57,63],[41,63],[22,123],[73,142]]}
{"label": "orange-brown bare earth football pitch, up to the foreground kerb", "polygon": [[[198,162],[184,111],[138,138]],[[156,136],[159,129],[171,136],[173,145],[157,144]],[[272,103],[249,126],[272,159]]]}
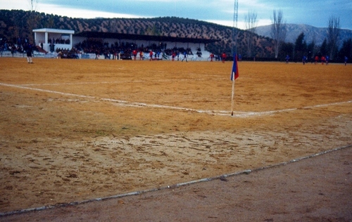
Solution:
{"label": "orange-brown bare earth football pitch, up to the foreground kerb", "polygon": [[0,67],[1,213],[352,144],[350,65],[239,63],[234,117],[230,62],[0,58]]}

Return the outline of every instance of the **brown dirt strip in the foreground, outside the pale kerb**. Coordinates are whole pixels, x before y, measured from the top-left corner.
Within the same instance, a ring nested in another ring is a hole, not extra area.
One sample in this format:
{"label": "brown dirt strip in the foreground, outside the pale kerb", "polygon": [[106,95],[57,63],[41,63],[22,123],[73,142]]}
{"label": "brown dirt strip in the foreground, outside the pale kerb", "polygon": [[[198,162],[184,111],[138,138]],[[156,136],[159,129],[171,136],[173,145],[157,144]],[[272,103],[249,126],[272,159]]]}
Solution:
{"label": "brown dirt strip in the foreground, outside the pale kerb", "polygon": [[249,174],[5,221],[351,221],[351,159],[349,147]]}

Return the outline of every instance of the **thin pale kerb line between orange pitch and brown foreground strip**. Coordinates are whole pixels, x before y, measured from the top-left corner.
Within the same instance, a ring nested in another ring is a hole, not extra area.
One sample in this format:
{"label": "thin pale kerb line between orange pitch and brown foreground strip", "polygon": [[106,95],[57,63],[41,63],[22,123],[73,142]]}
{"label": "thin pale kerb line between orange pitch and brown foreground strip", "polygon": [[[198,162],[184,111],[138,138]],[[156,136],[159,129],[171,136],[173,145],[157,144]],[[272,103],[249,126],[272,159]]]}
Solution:
{"label": "thin pale kerb line between orange pitch and brown foreground strip", "polygon": [[272,164],[272,165],[269,165],[269,166],[263,166],[263,167],[259,167],[259,168],[256,168],[256,169],[246,169],[244,171],[234,172],[232,174],[222,174],[220,176],[201,178],[201,179],[196,180],[196,181],[189,181],[189,182],[185,182],[185,183],[176,183],[174,185],[168,185],[168,186],[164,186],[164,187],[161,187],[161,188],[153,188],[153,189],[150,189],[150,190],[141,190],[141,191],[136,191],[136,192],[127,192],[127,193],[122,193],[120,195],[113,195],[113,196],[109,196],[109,197],[94,198],[94,199],[91,199],[91,200],[82,200],[82,201],[77,201],[77,202],[69,202],[69,203],[65,203],[65,204],[56,204],[56,205],[49,205],[49,206],[43,206],[43,207],[34,207],[34,208],[28,208],[28,209],[20,209],[20,210],[16,210],[16,211],[0,212],[0,217],[1,216],[11,216],[11,215],[14,215],[14,214],[25,214],[25,213],[30,213],[30,212],[33,212],[33,211],[42,211],[42,210],[45,210],[45,209],[54,209],[54,208],[58,208],[58,207],[76,206],[76,205],[79,205],[79,204],[87,204],[87,203],[96,202],[96,201],[118,199],[118,198],[122,198],[122,197],[134,196],[134,195],[141,195],[141,194],[146,193],[146,192],[156,192],[158,190],[166,190],[166,189],[170,189],[170,188],[174,189],[174,188],[179,188],[179,187],[182,187],[182,186],[185,186],[185,185],[191,185],[191,184],[194,184],[194,183],[214,181],[216,179],[224,180],[224,179],[226,179],[229,176],[238,176],[238,175],[241,175],[241,174],[250,174],[251,172],[254,172],[254,171],[260,171],[260,170],[263,170],[263,169],[270,169],[270,168],[277,167],[277,166],[284,166],[284,165],[287,165],[287,164],[291,164],[291,163],[294,163],[294,162],[301,161],[303,159],[309,159],[309,158],[313,158],[313,157],[318,157],[320,155],[324,155],[324,154],[329,153],[329,152],[334,152],[334,151],[337,151],[337,150],[343,150],[343,149],[346,149],[346,148],[352,148],[352,144],[345,145],[345,146],[342,146],[342,147],[339,147],[339,148],[334,148],[332,150],[325,150],[325,151],[322,151],[322,152],[315,153],[313,155],[308,155],[306,157],[298,157],[296,159],[291,159],[288,162],[281,162],[281,163],[278,163],[278,164]]}

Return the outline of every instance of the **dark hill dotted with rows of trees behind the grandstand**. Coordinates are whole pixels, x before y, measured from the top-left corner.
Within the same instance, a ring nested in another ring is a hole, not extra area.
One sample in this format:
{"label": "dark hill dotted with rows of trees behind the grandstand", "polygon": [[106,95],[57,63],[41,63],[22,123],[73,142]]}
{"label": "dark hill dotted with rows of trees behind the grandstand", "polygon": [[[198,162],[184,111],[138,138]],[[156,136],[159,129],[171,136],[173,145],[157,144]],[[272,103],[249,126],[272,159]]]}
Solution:
{"label": "dark hill dotted with rows of trees behind the grandstand", "polygon": [[[163,18],[69,18],[66,16],[49,15],[34,11],[0,10],[0,37],[11,41],[17,37],[27,37],[33,41],[32,30],[53,28],[84,31],[117,32],[125,34],[145,34],[166,37],[185,37],[201,39],[217,39],[208,44],[206,49],[213,53],[232,51],[232,27],[217,25],[200,20],[163,17]],[[272,39],[258,34],[237,31],[237,51],[246,57],[248,51],[247,38],[251,38],[253,49],[251,56],[272,58]]]}

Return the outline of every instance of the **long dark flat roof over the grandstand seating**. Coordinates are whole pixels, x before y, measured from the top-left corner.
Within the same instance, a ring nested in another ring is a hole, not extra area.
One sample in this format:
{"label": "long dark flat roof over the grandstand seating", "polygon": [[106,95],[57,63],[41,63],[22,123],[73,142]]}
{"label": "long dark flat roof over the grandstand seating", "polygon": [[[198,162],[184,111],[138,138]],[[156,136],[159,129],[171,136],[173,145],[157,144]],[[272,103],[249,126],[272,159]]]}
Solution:
{"label": "long dark flat roof over the grandstand seating", "polygon": [[75,37],[86,38],[102,38],[102,39],[131,39],[131,40],[145,40],[145,41],[171,41],[171,42],[190,42],[208,44],[218,39],[199,39],[199,38],[180,38],[180,37],[164,37],[152,36],[144,34],[122,34],[114,32],[80,32],[75,34]]}

